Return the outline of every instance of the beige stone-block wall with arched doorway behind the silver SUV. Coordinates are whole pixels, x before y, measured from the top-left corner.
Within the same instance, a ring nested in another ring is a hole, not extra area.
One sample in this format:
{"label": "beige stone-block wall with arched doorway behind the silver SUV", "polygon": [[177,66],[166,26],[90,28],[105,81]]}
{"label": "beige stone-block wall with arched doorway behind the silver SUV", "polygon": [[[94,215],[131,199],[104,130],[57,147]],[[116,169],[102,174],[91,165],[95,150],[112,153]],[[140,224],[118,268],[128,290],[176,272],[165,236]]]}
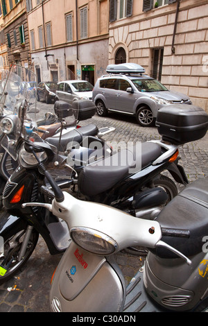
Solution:
{"label": "beige stone-block wall with arched doorway behind the silver SUV", "polygon": [[133,16],[110,24],[109,61],[119,46],[128,62],[136,62],[151,74],[152,49],[164,47],[162,83],[169,89],[191,97],[193,104],[208,112],[208,3],[180,1],[171,52],[176,3],[142,12],[142,2],[134,1]]}

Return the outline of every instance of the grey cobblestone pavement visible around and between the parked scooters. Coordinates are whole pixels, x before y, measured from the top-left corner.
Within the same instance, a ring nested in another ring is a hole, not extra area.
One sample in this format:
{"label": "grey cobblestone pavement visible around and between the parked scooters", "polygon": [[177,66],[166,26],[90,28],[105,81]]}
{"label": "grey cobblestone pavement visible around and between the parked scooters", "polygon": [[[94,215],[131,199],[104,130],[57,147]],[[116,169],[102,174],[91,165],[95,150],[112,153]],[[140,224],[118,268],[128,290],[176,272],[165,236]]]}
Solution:
{"label": "grey cobblestone pavement visible around and between the parked scooters", "polygon": [[[49,107],[48,107],[49,108]],[[53,110],[51,109],[51,112]],[[132,117],[110,114],[101,118],[95,115],[80,125],[94,123],[96,126],[113,126],[116,130],[105,136],[107,141],[146,141],[159,139],[157,128],[142,128]],[[190,182],[208,176],[208,134],[199,141],[185,144],[180,148],[180,164],[189,177]],[[60,261],[61,255],[51,256],[40,237],[33,255],[22,271],[0,286],[1,312],[49,312],[49,291],[51,276]],[[142,257],[133,257],[125,252],[116,255],[126,280],[135,275],[141,266]]]}

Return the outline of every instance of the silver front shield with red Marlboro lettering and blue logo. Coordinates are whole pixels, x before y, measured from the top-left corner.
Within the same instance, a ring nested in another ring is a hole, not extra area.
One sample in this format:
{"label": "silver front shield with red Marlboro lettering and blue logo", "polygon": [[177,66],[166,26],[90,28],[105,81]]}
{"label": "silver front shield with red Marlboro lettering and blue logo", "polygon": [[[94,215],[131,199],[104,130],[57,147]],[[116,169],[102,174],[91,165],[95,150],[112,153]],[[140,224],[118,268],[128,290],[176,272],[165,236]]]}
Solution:
{"label": "silver front shield with red Marlboro lettering and blue logo", "polygon": [[53,276],[50,302],[54,312],[122,311],[125,280],[118,266],[70,244]]}

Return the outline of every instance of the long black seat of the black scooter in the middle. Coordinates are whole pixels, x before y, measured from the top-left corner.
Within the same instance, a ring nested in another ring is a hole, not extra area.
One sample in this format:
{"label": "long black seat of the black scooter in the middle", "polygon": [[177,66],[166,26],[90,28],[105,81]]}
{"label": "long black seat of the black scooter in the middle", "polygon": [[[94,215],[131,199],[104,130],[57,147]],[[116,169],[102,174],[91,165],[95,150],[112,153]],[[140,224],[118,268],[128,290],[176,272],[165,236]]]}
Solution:
{"label": "long black seat of the black scooter in the middle", "polygon": [[161,155],[161,147],[155,143],[141,143],[139,153],[137,148],[123,149],[105,160],[85,166],[78,178],[81,193],[86,196],[101,194],[125,178],[130,169],[135,166],[142,169]]}

